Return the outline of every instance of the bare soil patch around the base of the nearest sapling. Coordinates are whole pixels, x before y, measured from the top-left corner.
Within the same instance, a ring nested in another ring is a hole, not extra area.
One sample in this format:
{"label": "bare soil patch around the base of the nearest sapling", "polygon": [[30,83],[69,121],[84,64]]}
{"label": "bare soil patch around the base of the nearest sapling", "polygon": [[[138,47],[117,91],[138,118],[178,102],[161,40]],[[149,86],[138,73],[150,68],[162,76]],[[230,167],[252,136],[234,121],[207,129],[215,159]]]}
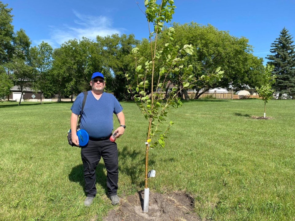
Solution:
{"label": "bare soil patch around the base of the nearest sapling", "polygon": [[200,221],[193,213],[194,199],[184,192],[149,194],[148,212],[143,212],[144,191],[122,199],[104,221]]}

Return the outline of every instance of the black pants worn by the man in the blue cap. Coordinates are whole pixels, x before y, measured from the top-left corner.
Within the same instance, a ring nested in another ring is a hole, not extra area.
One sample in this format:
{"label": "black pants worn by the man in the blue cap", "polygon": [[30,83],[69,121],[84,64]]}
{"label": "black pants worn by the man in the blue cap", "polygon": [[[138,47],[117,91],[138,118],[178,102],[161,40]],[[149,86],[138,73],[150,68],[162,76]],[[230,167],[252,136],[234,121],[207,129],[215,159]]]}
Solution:
{"label": "black pants worn by the man in the blue cap", "polygon": [[84,167],[85,192],[87,192],[87,196],[94,197],[96,195],[95,169],[101,157],[104,159],[104,165],[107,170],[108,195],[116,195],[119,174],[117,144],[111,142],[108,138],[89,138],[88,144],[81,148],[81,157]]}

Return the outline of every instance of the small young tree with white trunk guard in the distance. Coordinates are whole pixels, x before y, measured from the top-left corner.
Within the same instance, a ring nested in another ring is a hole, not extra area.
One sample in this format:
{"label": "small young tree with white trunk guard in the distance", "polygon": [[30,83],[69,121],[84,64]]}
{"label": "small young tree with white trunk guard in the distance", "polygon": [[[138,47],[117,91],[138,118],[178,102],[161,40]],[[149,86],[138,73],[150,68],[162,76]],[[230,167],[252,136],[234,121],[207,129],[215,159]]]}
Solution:
{"label": "small young tree with white trunk guard in the distance", "polygon": [[262,100],[264,101],[264,118],[265,118],[265,105],[268,103],[270,99],[273,98],[273,90],[272,85],[275,83],[276,76],[272,75],[273,71],[273,65],[267,64],[264,68],[264,83],[261,87],[256,87],[256,91],[260,97],[262,97]]}

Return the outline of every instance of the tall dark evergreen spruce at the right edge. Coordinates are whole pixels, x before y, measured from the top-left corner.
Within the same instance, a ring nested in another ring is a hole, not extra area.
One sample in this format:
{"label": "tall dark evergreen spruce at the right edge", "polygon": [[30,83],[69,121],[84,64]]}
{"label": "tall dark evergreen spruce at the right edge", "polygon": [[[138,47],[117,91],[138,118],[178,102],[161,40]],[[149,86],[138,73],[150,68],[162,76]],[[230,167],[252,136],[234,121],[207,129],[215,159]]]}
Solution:
{"label": "tall dark evergreen spruce at the right edge", "polygon": [[266,59],[267,64],[274,66],[273,75],[276,83],[273,85],[275,93],[279,98],[283,94],[291,95],[295,99],[295,45],[292,45],[292,35],[285,27],[281,30],[279,37],[271,44],[270,52]]}

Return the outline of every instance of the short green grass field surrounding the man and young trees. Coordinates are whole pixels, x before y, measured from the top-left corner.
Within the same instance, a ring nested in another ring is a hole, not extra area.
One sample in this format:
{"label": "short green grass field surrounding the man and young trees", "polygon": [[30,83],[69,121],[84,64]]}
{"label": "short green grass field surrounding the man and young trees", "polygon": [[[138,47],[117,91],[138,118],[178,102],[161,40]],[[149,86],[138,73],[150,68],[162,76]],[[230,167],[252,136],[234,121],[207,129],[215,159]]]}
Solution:
{"label": "short green grass field surrounding the man and young trees", "polygon": [[[72,103],[0,103],[0,220],[101,220],[112,206],[103,161],[97,197],[83,205],[80,149],[67,143]],[[144,189],[148,122],[121,102],[121,200]],[[295,220],[295,100],[197,100],[171,109],[165,148],[149,151],[151,192],[184,191],[203,220]],[[97,122],[99,123],[99,122]],[[114,127],[118,126],[114,118]]]}

